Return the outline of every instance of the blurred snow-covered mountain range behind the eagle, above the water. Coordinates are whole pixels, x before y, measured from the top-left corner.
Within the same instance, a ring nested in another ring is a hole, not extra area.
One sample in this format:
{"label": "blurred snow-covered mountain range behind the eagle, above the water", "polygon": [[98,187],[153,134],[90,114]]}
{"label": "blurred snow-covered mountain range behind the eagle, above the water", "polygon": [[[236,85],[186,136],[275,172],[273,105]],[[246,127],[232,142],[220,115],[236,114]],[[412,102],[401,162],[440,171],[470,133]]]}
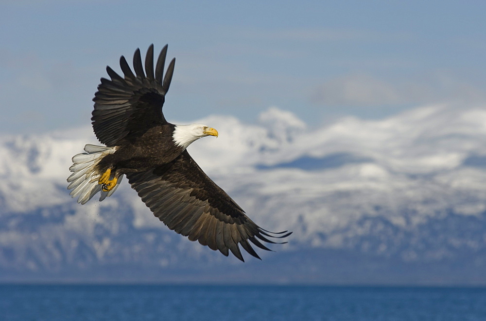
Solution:
{"label": "blurred snow-covered mountain range behind the eagle, above the water", "polygon": [[291,230],[241,263],[170,231],[125,181],[69,197],[91,128],[0,138],[0,281],[486,284],[486,108],[425,106],[308,128],[197,120],[220,136],[189,152],[260,226]]}

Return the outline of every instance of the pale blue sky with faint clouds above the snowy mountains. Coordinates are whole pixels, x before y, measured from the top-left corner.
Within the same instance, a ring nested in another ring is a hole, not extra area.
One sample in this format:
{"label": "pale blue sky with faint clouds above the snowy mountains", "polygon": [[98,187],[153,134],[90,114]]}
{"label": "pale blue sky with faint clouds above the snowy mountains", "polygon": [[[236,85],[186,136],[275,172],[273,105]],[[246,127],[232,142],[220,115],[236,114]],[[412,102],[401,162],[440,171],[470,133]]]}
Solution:
{"label": "pale blue sky with faint clouds above the snowy mountains", "polygon": [[484,1],[2,1],[0,133],[88,125],[109,64],[169,44],[164,113],[311,126],[486,100]]}

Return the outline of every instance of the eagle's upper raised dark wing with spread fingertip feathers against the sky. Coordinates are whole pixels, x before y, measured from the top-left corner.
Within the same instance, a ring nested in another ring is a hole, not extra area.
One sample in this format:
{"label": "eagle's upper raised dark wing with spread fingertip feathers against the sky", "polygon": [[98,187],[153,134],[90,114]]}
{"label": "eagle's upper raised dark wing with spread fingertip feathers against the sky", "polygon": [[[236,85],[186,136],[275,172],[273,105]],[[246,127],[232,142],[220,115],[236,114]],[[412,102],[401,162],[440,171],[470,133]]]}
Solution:
{"label": "eagle's upper raised dark wing with spread fingertip feathers against the sky", "polygon": [[150,45],[145,56],[145,72],[140,50],[133,56],[133,69],[125,57],[120,57],[124,78],[109,66],[106,71],[111,80],[101,79],[93,98],[93,130],[98,140],[107,146],[114,146],[121,139],[134,140],[148,129],[166,124],[162,114],[165,94],[169,90],[174,73],[175,58],[169,64],[165,77],[167,45],[160,51],[154,74],[154,45]]}

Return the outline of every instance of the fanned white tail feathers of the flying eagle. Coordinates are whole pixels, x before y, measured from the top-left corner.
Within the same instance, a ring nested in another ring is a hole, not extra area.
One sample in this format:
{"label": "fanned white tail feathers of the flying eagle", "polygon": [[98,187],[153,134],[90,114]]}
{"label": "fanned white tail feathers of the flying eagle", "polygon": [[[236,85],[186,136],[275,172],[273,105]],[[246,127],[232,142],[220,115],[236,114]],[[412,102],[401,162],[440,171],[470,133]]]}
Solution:
{"label": "fanned white tail feathers of the flying eagle", "polygon": [[69,170],[73,173],[68,177],[68,190],[72,190],[69,193],[72,197],[79,196],[78,203],[85,204],[98,192],[101,192],[100,201],[115,193],[123,175],[118,177],[117,185],[111,191],[103,192],[101,189],[102,185],[98,184],[98,180],[103,173],[96,172],[95,167],[104,156],[113,154],[116,150],[116,146],[105,147],[87,144],[85,146],[86,153],[73,156],[73,164],[69,167]]}

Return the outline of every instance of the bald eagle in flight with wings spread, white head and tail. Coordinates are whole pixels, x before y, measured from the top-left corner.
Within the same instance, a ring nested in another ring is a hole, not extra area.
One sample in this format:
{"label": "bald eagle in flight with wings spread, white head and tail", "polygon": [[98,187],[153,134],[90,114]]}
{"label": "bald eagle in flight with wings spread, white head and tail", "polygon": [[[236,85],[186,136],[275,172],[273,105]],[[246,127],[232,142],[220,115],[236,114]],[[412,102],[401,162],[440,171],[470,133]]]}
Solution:
{"label": "bald eagle in flight with wings spread, white head and tail", "polygon": [[150,45],[144,70],[137,49],[135,74],[121,56],[124,77],[106,67],[111,79],[101,79],[91,117],[94,133],[105,146],[87,144],[85,153],[72,158],[70,195],[85,204],[100,192],[102,201],[126,175],[145,205],[170,229],[225,256],[231,251],[244,261],[240,244],[260,258],[248,240],[270,250],[260,241],[277,243],[269,238],[285,238],[292,232],[274,233],[256,225],[189,155],[186,148],[191,143],[217,137],[218,131],[204,124],[174,125],[165,120],[162,105],[175,64],[174,58],[163,77],[166,54],[167,45],[154,68]]}

